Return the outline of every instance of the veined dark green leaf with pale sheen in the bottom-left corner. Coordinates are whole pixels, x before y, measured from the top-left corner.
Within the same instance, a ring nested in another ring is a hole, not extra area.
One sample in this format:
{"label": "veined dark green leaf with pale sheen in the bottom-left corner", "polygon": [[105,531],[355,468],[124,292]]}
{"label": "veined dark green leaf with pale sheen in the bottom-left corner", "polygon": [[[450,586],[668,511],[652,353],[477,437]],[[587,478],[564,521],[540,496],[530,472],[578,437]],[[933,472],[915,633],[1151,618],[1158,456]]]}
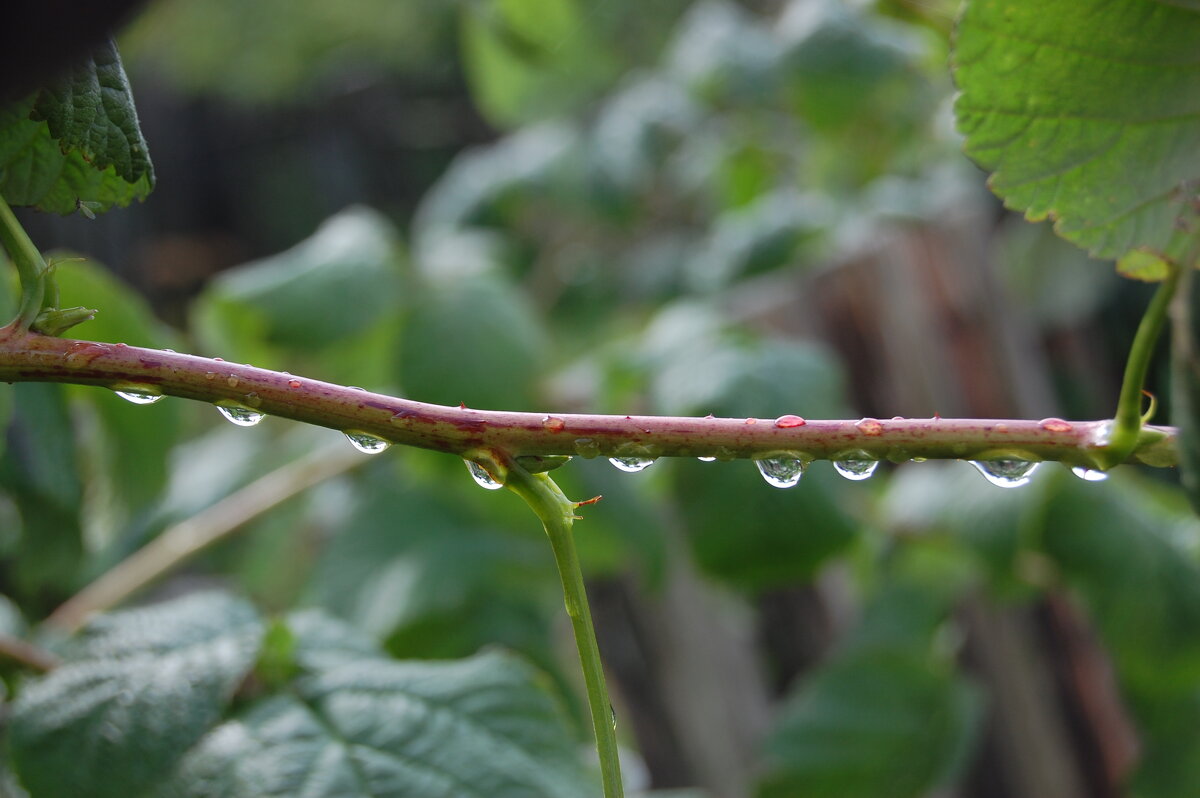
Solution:
{"label": "veined dark green leaf with pale sheen in the bottom-left corner", "polygon": [[35,796],[137,796],[220,719],[263,626],[244,601],[198,594],[102,616],[13,709],[11,751]]}

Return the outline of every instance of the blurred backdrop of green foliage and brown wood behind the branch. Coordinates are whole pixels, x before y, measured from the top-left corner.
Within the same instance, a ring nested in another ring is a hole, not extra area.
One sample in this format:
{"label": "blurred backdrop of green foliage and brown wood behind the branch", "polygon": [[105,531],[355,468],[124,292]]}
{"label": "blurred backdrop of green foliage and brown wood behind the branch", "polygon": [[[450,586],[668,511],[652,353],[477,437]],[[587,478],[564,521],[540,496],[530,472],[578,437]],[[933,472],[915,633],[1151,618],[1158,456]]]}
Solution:
{"label": "blurred backdrop of green foliage and brown wood behind the branch", "polygon": [[[25,215],[82,337],[478,408],[1111,414],[1146,288],[960,152],[942,0],[158,0],[122,31],[158,187]],[[104,265],[100,265],[103,263]],[[1153,389],[1168,391],[1165,379]],[[17,385],[0,584],[34,614],[335,432]],[[1165,412],[1169,412],[1166,408]],[[1165,420],[1169,421],[1169,418]],[[1174,474],[556,472],[631,782],[661,796],[1192,797],[1200,526]],[[161,588],[503,646],[584,709],[516,498],[396,449]],[[678,790],[679,792],[666,792]]]}

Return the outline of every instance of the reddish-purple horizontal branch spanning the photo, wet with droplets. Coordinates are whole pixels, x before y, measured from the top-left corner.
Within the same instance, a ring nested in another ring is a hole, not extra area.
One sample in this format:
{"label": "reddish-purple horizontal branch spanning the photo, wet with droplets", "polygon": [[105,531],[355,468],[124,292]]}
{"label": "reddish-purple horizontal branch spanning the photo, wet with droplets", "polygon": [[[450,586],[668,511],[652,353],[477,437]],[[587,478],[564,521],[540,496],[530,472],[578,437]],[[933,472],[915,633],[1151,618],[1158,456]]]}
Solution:
{"label": "reddish-purple horizontal branch spanning the photo, wet with droplets", "polygon": [[[284,419],[455,455],[811,460],[1050,460],[1106,464],[1108,421],[992,419],[672,418],[512,413],[445,407],[283,372],[122,343],[0,330],[0,380],[140,388],[202,402],[236,403]],[[803,408],[797,408],[803,410]],[[1144,427],[1124,462],[1174,466],[1175,430]]]}

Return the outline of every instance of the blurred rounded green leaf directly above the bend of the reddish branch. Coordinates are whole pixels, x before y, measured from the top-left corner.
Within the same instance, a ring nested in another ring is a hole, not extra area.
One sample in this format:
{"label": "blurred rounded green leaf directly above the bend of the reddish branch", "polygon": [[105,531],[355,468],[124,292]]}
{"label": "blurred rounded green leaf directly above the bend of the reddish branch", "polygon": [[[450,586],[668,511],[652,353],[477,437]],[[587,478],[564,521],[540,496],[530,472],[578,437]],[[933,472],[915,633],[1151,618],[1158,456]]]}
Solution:
{"label": "blurred rounded green leaf directly above the bend of the reddish branch", "polygon": [[548,341],[523,294],[493,276],[421,287],[400,346],[400,383],[422,402],[529,409]]}

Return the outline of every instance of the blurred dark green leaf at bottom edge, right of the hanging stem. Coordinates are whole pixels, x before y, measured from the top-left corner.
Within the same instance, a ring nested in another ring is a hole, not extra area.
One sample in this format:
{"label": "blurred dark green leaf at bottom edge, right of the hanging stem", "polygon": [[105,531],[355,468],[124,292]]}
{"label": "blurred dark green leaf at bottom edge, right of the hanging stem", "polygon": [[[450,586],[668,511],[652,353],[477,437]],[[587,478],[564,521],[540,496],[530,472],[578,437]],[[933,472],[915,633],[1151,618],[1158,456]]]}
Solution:
{"label": "blurred dark green leaf at bottom edge, right of the hanging stem", "polygon": [[979,697],[930,655],[948,611],[917,586],[877,595],[846,648],[786,701],[760,798],[916,798],[953,778]]}

